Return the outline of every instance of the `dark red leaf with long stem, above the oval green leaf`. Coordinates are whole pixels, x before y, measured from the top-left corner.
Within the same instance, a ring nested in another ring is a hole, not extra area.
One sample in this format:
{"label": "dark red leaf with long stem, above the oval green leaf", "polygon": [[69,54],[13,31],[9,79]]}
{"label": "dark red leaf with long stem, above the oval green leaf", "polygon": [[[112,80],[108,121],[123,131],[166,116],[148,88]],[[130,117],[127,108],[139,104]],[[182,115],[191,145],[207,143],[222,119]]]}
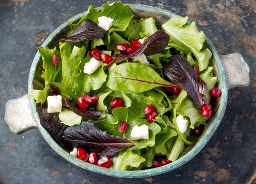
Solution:
{"label": "dark red leaf with long stem, above the oval green leaf", "polygon": [[146,56],[159,53],[168,45],[170,36],[164,30],[158,30],[152,34],[134,53],[113,55],[113,60],[104,69],[109,68],[113,63],[118,63],[126,58],[134,58],[144,53]]}

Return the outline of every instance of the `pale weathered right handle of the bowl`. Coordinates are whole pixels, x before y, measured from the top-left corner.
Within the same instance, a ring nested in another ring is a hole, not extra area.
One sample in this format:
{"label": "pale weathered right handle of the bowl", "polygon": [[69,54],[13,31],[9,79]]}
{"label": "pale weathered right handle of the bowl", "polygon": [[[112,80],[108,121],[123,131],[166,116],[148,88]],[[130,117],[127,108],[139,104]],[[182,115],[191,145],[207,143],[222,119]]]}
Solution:
{"label": "pale weathered right handle of the bowl", "polygon": [[250,83],[250,68],[240,53],[220,56],[226,71],[227,88],[246,87]]}

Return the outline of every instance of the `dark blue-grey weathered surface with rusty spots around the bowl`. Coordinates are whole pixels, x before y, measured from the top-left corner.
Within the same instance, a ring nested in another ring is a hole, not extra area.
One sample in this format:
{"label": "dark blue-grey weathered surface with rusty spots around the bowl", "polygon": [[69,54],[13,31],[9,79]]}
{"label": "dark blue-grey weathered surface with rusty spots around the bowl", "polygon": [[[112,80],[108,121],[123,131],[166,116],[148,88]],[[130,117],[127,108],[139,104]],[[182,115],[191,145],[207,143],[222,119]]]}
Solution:
{"label": "dark blue-grey weathered surface with rusty spots around the bowl", "polygon": [[5,103],[27,93],[30,65],[44,39],[64,21],[110,1],[0,0],[0,183],[256,183],[256,1],[123,0],[158,6],[189,20],[219,54],[238,52],[251,68],[251,83],[229,91],[225,116],[212,139],[190,162],[144,179],[116,179],[70,164],[38,130],[13,135],[4,122]]}

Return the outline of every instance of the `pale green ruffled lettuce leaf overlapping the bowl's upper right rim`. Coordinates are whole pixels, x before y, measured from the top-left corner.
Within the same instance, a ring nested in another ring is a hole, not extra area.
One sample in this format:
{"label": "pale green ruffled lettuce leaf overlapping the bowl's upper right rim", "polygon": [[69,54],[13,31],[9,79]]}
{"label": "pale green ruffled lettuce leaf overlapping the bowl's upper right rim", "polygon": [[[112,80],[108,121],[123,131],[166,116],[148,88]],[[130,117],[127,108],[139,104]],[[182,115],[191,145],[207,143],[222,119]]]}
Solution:
{"label": "pale green ruffled lettuce leaf overlapping the bowl's upper right rim", "polygon": [[162,29],[170,35],[169,46],[183,53],[192,52],[197,58],[199,70],[207,68],[212,53],[208,48],[202,50],[205,35],[197,30],[195,22],[187,24],[187,17],[175,17],[162,24]]}

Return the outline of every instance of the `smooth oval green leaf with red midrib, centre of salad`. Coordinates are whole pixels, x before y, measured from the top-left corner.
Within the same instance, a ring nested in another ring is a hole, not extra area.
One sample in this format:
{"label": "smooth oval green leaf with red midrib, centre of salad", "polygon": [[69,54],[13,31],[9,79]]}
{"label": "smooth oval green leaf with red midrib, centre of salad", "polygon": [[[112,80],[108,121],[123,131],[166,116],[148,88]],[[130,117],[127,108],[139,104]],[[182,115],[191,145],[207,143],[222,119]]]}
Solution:
{"label": "smooth oval green leaf with red midrib, centre of salad", "polygon": [[141,63],[119,64],[108,74],[106,86],[123,92],[145,92],[154,87],[176,87],[158,75],[152,68]]}

